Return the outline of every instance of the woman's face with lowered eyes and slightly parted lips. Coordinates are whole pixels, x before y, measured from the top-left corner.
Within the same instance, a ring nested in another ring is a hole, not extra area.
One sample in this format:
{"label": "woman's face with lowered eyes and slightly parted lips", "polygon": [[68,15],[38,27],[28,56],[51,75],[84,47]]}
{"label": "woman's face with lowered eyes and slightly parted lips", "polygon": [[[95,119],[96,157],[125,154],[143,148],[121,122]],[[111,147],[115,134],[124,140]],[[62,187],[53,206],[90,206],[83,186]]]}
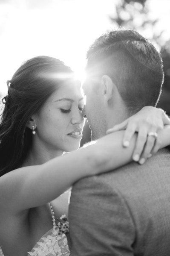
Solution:
{"label": "woman's face with lowered eyes and slightly parted lips", "polygon": [[47,150],[78,149],[82,138],[84,97],[77,81],[57,88],[36,115],[36,143]]}

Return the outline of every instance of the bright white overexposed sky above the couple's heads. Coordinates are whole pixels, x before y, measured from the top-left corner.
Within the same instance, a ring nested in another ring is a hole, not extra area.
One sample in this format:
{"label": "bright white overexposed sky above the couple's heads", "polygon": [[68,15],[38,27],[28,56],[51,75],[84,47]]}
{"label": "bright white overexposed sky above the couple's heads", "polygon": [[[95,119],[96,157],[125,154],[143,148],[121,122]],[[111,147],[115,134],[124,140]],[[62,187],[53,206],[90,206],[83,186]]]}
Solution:
{"label": "bright white overexposed sky above the couple's heads", "polygon": [[[108,15],[115,12],[117,1],[1,0],[0,94],[6,94],[6,80],[22,62],[38,55],[61,59],[82,77],[89,46],[107,29],[116,28]],[[148,0],[148,4],[168,31],[170,1]]]}

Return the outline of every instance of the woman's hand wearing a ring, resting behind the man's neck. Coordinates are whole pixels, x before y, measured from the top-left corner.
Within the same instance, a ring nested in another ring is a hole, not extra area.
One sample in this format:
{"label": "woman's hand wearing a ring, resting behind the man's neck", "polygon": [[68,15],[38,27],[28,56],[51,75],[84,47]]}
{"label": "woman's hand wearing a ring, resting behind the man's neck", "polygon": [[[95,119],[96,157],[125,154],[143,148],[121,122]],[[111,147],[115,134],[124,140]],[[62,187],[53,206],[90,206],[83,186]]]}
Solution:
{"label": "woman's hand wearing a ring, resting behind the man's neck", "polygon": [[126,129],[123,146],[128,147],[133,134],[138,132],[133,160],[143,164],[145,159],[152,156],[152,153],[156,153],[160,148],[161,141],[157,132],[162,130],[164,125],[170,125],[170,118],[165,112],[162,109],[146,106],[121,124],[107,130],[107,134]]}

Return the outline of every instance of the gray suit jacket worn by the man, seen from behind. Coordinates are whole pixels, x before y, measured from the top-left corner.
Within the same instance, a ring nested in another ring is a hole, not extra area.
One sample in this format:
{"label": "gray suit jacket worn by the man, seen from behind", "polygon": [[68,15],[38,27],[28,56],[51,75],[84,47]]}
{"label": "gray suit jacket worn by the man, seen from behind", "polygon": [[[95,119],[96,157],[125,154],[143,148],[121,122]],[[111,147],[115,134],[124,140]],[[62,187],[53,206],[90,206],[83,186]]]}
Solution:
{"label": "gray suit jacket worn by the man, seen from behind", "polygon": [[71,256],[170,256],[170,150],[75,183],[69,223]]}

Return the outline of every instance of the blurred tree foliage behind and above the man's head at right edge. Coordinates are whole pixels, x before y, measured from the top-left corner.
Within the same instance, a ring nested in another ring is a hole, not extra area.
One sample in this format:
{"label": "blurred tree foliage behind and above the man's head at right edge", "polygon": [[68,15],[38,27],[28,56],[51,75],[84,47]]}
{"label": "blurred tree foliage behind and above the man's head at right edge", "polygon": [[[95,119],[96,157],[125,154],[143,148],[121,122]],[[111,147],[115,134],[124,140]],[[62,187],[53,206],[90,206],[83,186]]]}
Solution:
{"label": "blurred tree foliage behind and above the man's head at right edge", "polygon": [[147,0],[120,0],[115,6],[115,15],[109,17],[118,28],[135,29],[144,37],[150,39],[160,51],[164,65],[164,85],[157,107],[170,116],[170,41],[165,41],[162,28],[158,29],[159,19],[150,15]]}

